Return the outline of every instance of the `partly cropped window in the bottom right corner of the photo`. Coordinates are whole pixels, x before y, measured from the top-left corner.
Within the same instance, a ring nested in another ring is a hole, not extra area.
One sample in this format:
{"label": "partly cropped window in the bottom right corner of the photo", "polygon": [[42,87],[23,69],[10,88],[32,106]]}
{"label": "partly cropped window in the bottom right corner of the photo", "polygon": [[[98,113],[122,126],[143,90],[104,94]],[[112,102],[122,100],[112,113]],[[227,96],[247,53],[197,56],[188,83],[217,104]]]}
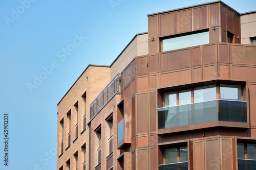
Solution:
{"label": "partly cropped window in the bottom right corner of the photo", "polygon": [[252,170],[256,165],[256,144],[238,142],[238,169]]}

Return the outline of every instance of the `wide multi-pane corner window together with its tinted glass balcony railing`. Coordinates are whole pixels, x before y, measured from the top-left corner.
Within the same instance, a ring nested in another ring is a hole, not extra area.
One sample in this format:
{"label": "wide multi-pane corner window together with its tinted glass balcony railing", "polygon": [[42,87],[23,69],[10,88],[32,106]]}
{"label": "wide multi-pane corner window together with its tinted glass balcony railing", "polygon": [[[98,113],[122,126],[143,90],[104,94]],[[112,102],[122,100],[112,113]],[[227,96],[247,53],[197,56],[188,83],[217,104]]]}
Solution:
{"label": "wide multi-pane corner window together with its tinted glass balcony railing", "polygon": [[158,129],[207,122],[247,122],[240,85],[216,84],[164,93]]}

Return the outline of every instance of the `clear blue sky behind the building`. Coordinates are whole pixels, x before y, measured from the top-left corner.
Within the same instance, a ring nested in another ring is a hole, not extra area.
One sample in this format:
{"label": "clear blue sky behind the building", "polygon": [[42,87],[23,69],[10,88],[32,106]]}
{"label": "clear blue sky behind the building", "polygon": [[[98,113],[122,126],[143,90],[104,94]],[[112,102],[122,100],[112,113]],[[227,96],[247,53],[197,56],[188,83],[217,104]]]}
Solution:
{"label": "clear blue sky behind the building", "polygon": [[[147,14],[207,2],[1,0],[0,169],[56,169],[57,103],[88,64],[110,65],[147,32]],[[255,0],[223,2],[240,13],[256,10]]]}

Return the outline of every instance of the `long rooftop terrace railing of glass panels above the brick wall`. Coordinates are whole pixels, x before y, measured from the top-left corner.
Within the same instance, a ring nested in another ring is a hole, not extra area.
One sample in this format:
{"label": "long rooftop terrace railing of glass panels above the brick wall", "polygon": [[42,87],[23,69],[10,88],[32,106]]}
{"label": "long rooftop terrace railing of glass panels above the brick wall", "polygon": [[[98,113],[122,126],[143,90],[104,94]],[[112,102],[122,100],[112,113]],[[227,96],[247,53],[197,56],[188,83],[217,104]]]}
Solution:
{"label": "long rooftop terrace railing of glass panels above the brick wall", "polygon": [[119,92],[119,84],[119,74],[117,74],[90,105],[90,119],[92,119],[105,106],[105,104],[108,103],[117,92]]}

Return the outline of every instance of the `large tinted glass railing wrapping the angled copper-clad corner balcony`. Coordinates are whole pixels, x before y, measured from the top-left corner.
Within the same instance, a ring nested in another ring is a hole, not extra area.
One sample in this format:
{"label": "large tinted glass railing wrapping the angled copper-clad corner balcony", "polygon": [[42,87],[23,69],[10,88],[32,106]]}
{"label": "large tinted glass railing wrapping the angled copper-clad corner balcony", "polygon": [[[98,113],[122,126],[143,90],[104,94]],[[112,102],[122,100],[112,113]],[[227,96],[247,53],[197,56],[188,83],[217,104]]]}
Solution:
{"label": "large tinted glass railing wrapping the angled copper-clad corner balcony", "polygon": [[158,108],[158,129],[207,122],[247,122],[246,101],[213,100]]}

